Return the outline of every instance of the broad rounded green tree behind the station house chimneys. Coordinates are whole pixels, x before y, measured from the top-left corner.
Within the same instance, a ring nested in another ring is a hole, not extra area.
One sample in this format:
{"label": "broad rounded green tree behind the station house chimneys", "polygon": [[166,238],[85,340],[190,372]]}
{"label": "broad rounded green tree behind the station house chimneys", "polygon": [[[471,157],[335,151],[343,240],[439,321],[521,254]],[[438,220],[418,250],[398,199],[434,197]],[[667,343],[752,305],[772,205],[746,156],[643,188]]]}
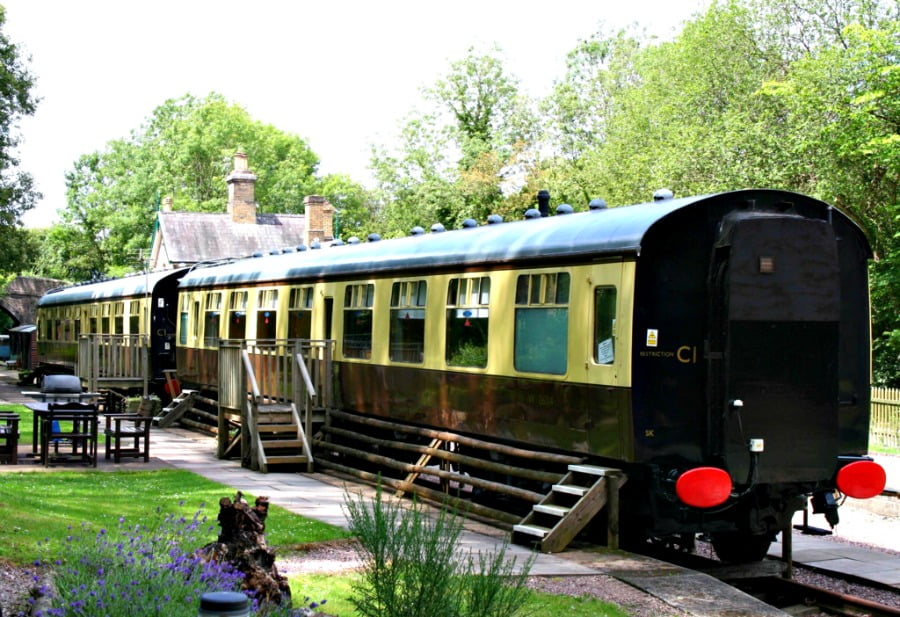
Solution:
{"label": "broad rounded green tree behind the station house chimneys", "polygon": [[303,197],[318,183],[318,158],[303,139],[253,120],[218,94],[186,95],[157,107],[129,138],[74,163],[62,229],[48,237],[50,254],[40,262],[62,266],[72,280],[138,267],[163,195],[180,210],[225,210],[224,179],[238,149],[257,175],[260,211],[303,211]]}

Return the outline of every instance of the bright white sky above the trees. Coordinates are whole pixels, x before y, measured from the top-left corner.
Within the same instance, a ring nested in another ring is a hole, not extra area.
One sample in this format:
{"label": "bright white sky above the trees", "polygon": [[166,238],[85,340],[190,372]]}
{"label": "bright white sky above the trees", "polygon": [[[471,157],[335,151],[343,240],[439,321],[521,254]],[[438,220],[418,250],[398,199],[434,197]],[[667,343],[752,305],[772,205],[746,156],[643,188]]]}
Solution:
{"label": "bright white sky above the trees", "polygon": [[[65,173],[127,137],[166,99],[218,92],[304,138],[320,173],[370,183],[370,146],[390,143],[421,89],[469,47],[499,46],[532,95],[600,24],[668,37],[704,0],[0,0],[6,35],[31,55],[42,98],[23,119],[22,168],[52,224]],[[252,168],[253,161],[250,161]],[[224,191],[224,184],[223,184]]]}

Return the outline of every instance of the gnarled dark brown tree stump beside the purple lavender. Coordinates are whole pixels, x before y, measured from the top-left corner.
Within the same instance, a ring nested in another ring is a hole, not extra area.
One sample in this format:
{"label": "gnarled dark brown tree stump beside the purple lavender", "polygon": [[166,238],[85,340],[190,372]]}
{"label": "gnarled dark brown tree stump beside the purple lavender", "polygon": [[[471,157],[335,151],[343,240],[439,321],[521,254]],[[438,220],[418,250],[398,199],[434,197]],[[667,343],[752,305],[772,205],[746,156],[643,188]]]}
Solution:
{"label": "gnarled dark brown tree stump beside the purple lavender", "polygon": [[275,552],[266,546],[268,514],[268,497],[257,497],[252,508],[240,491],[233,502],[223,497],[219,500],[219,538],[201,548],[200,554],[209,561],[230,563],[242,572],[242,590],[256,598],[260,606],[290,606],[291,589],[287,578],[278,574]]}

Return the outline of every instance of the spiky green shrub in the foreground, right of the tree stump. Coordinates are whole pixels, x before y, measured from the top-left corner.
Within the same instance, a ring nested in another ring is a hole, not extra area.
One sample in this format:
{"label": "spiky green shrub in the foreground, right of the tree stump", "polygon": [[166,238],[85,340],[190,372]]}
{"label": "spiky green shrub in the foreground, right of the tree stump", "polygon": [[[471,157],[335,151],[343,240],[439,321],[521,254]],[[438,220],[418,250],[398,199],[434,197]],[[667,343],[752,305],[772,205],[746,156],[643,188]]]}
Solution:
{"label": "spiky green shrub in the foreground, right of the tree stump", "polygon": [[459,557],[462,519],[446,507],[432,519],[415,501],[386,502],[380,486],[371,504],[348,493],[345,506],[363,559],[350,601],[363,617],[511,617],[528,600],[534,558],[515,574],[506,545]]}

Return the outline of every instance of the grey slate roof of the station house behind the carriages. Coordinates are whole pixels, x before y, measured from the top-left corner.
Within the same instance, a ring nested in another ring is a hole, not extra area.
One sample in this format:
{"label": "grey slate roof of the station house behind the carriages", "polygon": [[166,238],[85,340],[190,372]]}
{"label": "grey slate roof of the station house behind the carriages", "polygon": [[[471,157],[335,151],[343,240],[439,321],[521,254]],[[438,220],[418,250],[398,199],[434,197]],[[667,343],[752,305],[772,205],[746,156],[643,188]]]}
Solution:
{"label": "grey slate roof of the station house behind the carriages", "polygon": [[227,213],[160,212],[157,233],[161,258],[181,265],[296,247],[305,229],[302,214],[257,214],[256,225],[250,225],[235,223]]}

